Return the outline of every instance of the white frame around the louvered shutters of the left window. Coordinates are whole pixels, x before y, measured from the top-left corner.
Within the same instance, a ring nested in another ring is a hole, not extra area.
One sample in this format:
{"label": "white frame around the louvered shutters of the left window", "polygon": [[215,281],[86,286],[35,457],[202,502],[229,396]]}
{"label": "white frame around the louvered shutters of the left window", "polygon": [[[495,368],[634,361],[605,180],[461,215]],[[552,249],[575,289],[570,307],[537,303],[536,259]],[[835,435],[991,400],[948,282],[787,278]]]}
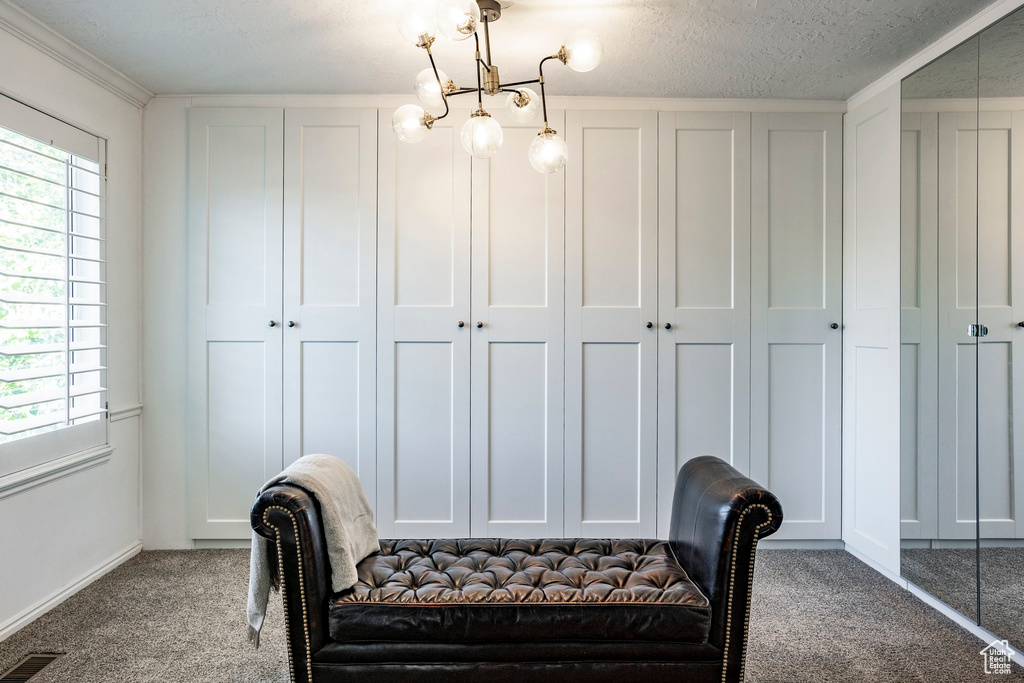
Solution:
{"label": "white frame around the louvered shutters of the left window", "polygon": [[[96,161],[103,172],[100,176],[100,195],[106,197],[106,140],[3,94],[0,94],[0,126],[74,156]],[[99,203],[102,239],[106,237],[105,204],[105,201]],[[106,285],[102,287],[105,301]],[[105,331],[102,334],[105,344]],[[102,358],[101,365],[106,366],[105,349],[102,351]],[[109,377],[104,386],[110,386]],[[104,446],[108,443],[108,422],[109,413],[100,415],[96,420],[0,443],[0,477]]]}

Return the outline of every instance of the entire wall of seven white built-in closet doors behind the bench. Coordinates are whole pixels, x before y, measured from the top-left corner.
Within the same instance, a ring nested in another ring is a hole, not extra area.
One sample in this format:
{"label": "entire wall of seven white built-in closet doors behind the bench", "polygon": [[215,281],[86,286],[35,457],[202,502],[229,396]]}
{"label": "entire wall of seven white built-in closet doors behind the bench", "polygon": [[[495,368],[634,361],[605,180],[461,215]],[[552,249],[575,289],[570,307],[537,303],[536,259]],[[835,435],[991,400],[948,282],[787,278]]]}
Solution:
{"label": "entire wall of seven white built-in closet doors behind the bench", "polygon": [[839,538],[841,116],[467,114],[193,111],[193,536],[324,452],[385,538],[665,536],[705,454]]}

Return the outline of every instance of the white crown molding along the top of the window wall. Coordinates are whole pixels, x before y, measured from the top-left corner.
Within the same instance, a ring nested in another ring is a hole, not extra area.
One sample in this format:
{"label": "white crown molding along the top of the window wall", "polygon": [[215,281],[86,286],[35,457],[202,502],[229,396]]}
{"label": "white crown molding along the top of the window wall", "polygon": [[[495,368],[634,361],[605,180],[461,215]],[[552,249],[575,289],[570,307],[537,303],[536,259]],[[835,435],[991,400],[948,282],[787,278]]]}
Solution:
{"label": "white crown molding along the top of the window wall", "polygon": [[141,109],[153,99],[154,93],[24,9],[10,4],[8,0],[0,0],[0,29],[53,57],[133,106]]}

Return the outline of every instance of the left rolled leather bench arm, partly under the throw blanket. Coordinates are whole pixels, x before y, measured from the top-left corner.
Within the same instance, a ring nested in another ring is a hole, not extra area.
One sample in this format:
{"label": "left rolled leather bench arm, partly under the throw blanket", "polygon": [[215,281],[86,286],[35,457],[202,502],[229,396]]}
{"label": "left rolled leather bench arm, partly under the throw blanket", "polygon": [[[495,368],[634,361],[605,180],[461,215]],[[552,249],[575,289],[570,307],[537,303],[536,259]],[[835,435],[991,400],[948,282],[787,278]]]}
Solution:
{"label": "left rolled leather bench arm, partly under the throw blanket", "polygon": [[311,657],[328,641],[327,603],[331,564],[315,497],[292,484],[259,495],[250,515],[253,530],[269,539],[271,569],[285,602],[291,680],[312,681]]}

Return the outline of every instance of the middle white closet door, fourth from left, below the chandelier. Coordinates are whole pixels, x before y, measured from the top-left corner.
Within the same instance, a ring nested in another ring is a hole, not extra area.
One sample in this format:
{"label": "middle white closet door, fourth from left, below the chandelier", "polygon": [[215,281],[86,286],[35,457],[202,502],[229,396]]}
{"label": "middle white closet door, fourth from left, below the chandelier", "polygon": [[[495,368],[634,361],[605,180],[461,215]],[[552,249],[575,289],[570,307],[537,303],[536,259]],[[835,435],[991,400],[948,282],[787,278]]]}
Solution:
{"label": "middle white closet door, fourth from left, below the chandelier", "polygon": [[560,537],[565,174],[530,166],[537,124],[493,116],[502,152],[473,161],[472,533]]}

